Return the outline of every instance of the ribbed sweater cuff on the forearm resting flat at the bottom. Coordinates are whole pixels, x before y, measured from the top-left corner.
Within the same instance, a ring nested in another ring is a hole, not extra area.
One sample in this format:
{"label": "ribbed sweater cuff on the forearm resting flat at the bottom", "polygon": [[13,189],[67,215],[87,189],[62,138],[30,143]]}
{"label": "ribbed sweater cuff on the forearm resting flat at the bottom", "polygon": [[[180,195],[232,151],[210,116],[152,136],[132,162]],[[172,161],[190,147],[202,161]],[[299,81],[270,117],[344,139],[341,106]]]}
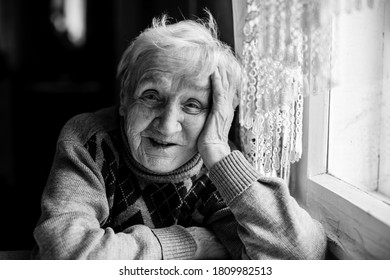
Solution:
{"label": "ribbed sweater cuff on the forearm resting flat at the bottom", "polygon": [[187,230],[179,225],[151,229],[160,242],[163,260],[193,259],[196,242]]}

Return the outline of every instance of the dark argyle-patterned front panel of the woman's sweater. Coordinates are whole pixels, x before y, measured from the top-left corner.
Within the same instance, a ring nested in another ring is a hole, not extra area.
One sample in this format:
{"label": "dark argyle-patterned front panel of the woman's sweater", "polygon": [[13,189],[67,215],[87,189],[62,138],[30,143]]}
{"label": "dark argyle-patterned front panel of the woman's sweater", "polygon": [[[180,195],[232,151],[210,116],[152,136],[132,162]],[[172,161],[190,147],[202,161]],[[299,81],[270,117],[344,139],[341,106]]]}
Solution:
{"label": "dark argyle-patterned front panel of the woman's sweater", "polygon": [[[150,228],[201,226],[226,207],[204,166],[192,176],[183,171],[163,178],[140,168],[128,151],[120,127],[96,133],[84,145],[104,179],[110,214],[103,228],[121,232],[136,224]],[[197,155],[181,170],[191,171],[202,164],[200,161]]]}

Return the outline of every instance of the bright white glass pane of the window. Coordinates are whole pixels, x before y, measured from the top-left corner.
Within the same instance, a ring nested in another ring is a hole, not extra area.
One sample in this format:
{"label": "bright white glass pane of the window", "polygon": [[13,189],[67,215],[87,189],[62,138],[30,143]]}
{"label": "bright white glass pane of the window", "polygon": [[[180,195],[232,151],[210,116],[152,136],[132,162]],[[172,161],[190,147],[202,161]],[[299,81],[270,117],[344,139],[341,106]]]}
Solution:
{"label": "bright white glass pane of the window", "polygon": [[[345,1],[342,1],[345,2]],[[384,1],[341,13],[335,21],[328,172],[378,189]]]}

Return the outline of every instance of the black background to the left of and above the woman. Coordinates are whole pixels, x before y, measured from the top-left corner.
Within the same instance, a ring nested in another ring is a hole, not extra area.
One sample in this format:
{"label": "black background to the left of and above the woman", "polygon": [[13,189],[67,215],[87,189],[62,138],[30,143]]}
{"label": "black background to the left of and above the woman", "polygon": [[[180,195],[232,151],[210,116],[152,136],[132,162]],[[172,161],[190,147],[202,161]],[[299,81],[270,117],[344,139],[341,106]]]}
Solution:
{"label": "black background to the left of and above the woman", "polygon": [[64,123],[118,101],[116,65],[162,12],[181,20],[207,7],[233,47],[231,0],[88,0],[87,38],[54,32],[50,0],[0,0],[0,251],[30,250],[40,197]]}

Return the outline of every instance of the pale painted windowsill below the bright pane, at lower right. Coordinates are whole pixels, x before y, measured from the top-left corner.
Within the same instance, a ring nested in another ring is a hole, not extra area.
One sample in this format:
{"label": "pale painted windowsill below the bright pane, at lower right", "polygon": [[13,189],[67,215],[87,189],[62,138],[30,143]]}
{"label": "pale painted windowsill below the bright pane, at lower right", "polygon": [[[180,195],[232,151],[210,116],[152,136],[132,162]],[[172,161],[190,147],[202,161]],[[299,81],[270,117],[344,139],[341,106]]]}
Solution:
{"label": "pale painted windowsill below the bright pane, at lower right", "polygon": [[307,208],[340,259],[390,259],[390,205],[333,176],[307,181]]}

